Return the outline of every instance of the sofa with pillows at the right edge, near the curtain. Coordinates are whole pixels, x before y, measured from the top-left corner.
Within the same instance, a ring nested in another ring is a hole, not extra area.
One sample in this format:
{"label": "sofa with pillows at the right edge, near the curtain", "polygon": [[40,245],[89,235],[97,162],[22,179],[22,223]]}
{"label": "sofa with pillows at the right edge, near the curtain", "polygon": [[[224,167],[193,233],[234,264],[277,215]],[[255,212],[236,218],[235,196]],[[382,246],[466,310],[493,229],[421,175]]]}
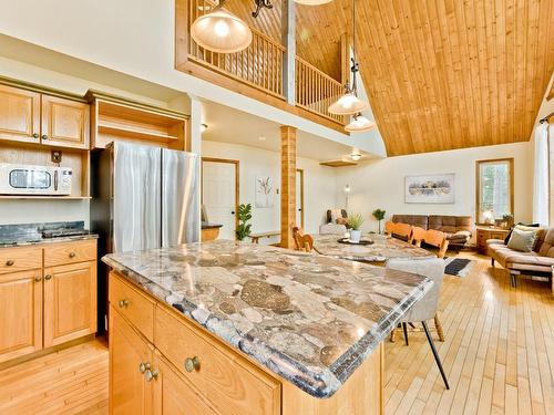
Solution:
{"label": "sofa with pillows at the right edge, near the curtain", "polygon": [[491,263],[497,261],[510,272],[512,287],[517,287],[517,276],[532,274],[552,278],[554,266],[554,228],[538,230],[535,247],[531,252],[520,252],[507,248],[501,239],[486,241]]}

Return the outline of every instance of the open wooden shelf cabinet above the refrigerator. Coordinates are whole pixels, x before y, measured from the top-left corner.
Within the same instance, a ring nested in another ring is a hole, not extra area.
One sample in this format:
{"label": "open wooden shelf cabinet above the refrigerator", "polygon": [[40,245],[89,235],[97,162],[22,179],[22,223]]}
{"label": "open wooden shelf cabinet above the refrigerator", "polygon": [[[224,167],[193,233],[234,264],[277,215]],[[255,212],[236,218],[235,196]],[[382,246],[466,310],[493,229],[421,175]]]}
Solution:
{"label": "open wooden shelf cabinet above the refrigerator", "polygon": [[89,91],[91,148],[131,142],[172,149],[188,149],[188,115],[126,98]]}

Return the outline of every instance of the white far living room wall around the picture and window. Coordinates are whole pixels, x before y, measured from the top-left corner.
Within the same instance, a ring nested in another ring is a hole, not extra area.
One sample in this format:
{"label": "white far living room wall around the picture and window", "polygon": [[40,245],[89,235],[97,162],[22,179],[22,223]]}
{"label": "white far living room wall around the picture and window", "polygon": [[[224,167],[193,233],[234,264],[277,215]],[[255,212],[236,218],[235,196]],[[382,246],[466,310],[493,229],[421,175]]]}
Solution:
{"label": "white far living room wall around the picture and window", "polygon": [[[439,214],[475,216],[475,160],[514,158],[514,216],[532,219],[532,146],[529,143],[474,147],[417,154],[368,162],[360,167],[337,169],[337,204],[345,205],[343,187],[350,184],[349,214],[366,217],[365,230],[377,230],[371,212]],[[455,174],[455,203],[451,205],[404,204],[404,177],[425,174]]]}

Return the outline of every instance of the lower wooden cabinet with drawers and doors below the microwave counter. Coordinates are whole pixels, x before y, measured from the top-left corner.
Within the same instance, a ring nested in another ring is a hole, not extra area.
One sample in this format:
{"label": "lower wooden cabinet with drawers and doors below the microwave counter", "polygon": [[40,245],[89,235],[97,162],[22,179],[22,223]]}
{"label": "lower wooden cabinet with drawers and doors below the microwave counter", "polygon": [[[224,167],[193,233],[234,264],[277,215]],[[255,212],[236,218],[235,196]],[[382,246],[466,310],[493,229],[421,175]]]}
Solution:
{"label": "lower wooden cabinet with drawers and doors below the microwave counter", "polygon": [[96,240],[1,248],[0,317],[0,362],[95,333]]}

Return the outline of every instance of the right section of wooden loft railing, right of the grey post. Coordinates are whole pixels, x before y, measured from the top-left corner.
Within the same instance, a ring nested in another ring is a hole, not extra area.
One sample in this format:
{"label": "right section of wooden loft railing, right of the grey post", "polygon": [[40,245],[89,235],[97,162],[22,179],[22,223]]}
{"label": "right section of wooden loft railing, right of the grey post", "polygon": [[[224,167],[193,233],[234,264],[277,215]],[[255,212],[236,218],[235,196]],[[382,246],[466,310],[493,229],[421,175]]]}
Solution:
{"label": "right section of wooden loft railing, right of the grey post", "polygon": [[304,59],[296,56],[296,105],[338,123],[345,123],[342,115],[327,111],[345,92],[345,86],[318,70]]}

